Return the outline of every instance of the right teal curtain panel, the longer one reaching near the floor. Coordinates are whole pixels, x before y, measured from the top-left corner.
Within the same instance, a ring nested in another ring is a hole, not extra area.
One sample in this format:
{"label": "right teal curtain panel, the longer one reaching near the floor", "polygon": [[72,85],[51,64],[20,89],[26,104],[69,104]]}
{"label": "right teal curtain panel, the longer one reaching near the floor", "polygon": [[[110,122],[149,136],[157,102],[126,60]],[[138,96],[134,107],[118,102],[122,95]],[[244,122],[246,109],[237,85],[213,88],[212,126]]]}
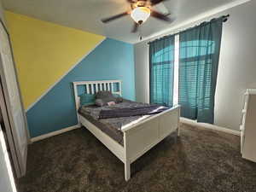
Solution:
{"label": "right teal curtain panel, the longer one reaching near the floor", "polygon": [[179,34],[179,104],[181,116],[213,124],[214,96],[223,19]]}

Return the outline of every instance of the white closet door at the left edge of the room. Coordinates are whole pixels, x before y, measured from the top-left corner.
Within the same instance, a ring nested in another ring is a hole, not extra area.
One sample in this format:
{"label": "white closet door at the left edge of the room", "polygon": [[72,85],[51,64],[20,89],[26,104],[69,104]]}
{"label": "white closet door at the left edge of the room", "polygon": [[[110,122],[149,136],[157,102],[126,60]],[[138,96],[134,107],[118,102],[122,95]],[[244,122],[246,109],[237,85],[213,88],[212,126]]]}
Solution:
{"label": "white closet door at the left edge of the room", "polygon": [[[26,132],[26,118],[20,100],[20,90],[16,79],[15,65],[9,43],[9,35],[7,31],[5,31],[2,22],[0,24],[0,55],[0,75],[10,125],[10,130],[7,131],[8,140],[11,137],[13,138],[15,154],[12,153],[12,159],[15,160],[16,158],[18,161],[17,163],[19,169],[15,168],[15,171],[17,177],[21,177],[26,173],[26,153],[28,141]],[[16,157],[14,155],[16,155]]]}

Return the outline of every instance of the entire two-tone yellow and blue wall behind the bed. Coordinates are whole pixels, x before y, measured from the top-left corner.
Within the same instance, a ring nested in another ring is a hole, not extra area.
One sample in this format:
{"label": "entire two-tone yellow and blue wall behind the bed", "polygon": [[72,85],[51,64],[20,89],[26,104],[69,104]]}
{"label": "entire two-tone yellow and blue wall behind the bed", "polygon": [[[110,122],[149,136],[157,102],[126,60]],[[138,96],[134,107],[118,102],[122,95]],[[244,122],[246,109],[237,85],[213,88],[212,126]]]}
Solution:
{"label": "entire two-tone yellow and blue wall behind the bed", "polygon": [[31,137],[77,125],[73,81],[120,79],[135,100],[132,44],[10,12],[7,22]]}

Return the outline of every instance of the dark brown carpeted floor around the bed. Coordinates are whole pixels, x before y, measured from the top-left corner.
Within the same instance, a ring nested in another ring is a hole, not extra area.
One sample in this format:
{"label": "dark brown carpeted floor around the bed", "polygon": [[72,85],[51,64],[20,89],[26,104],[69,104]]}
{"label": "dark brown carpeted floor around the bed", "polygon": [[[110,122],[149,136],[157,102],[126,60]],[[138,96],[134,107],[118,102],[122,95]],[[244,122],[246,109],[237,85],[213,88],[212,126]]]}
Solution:
{"label": "dark brown carpeted floor around the bed", "polygon": [[256,163],[241,159],[240,137],[181,128],[177,143],[167,137],[131,165],[128,183],[123,163],[86,129],[33,143],[19,192],[256,191]]}

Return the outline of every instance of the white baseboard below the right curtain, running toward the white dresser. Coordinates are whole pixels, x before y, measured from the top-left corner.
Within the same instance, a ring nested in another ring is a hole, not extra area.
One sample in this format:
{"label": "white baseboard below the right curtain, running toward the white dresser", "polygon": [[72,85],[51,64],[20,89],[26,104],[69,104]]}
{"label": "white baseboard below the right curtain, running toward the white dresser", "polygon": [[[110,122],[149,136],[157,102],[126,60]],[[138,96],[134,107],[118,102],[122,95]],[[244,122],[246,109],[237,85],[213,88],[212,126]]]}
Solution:
{"label": "white baseboard below the right curtain, running toward the white dresser", "polygon": [[198,123],[195,120],[186,119],[186,118],[180,118],[180,122],[183,123],[183,124],[200,126],[200,127],[206,128],[206,129],[215,130],[215,131],[222,131],[222,132],[225,132],[225,133],[230,133],[230,134],[235,135],[235,136],[240,136],[240,131],[230,130],[228,128],[218,126],[218,125]]}

